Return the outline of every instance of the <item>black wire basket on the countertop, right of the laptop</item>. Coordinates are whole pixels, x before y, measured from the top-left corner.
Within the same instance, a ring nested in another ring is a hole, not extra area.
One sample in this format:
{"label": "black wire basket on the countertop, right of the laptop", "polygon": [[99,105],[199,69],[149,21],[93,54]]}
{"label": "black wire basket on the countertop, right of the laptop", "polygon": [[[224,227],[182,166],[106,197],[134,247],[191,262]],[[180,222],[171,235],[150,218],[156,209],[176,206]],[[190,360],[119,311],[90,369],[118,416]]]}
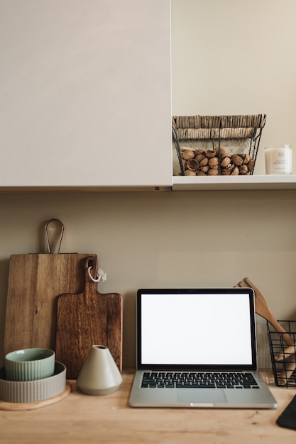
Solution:
{"label": "black wire basket on the countertop, right of the laptop", "polygon": [[285,333],[278,333],[267,322],[268,343],[275,384],[280,387],[296,387],[296,321],[278,321],[278,323],[292,339],[292,345],[287,345],[285,342]]}

